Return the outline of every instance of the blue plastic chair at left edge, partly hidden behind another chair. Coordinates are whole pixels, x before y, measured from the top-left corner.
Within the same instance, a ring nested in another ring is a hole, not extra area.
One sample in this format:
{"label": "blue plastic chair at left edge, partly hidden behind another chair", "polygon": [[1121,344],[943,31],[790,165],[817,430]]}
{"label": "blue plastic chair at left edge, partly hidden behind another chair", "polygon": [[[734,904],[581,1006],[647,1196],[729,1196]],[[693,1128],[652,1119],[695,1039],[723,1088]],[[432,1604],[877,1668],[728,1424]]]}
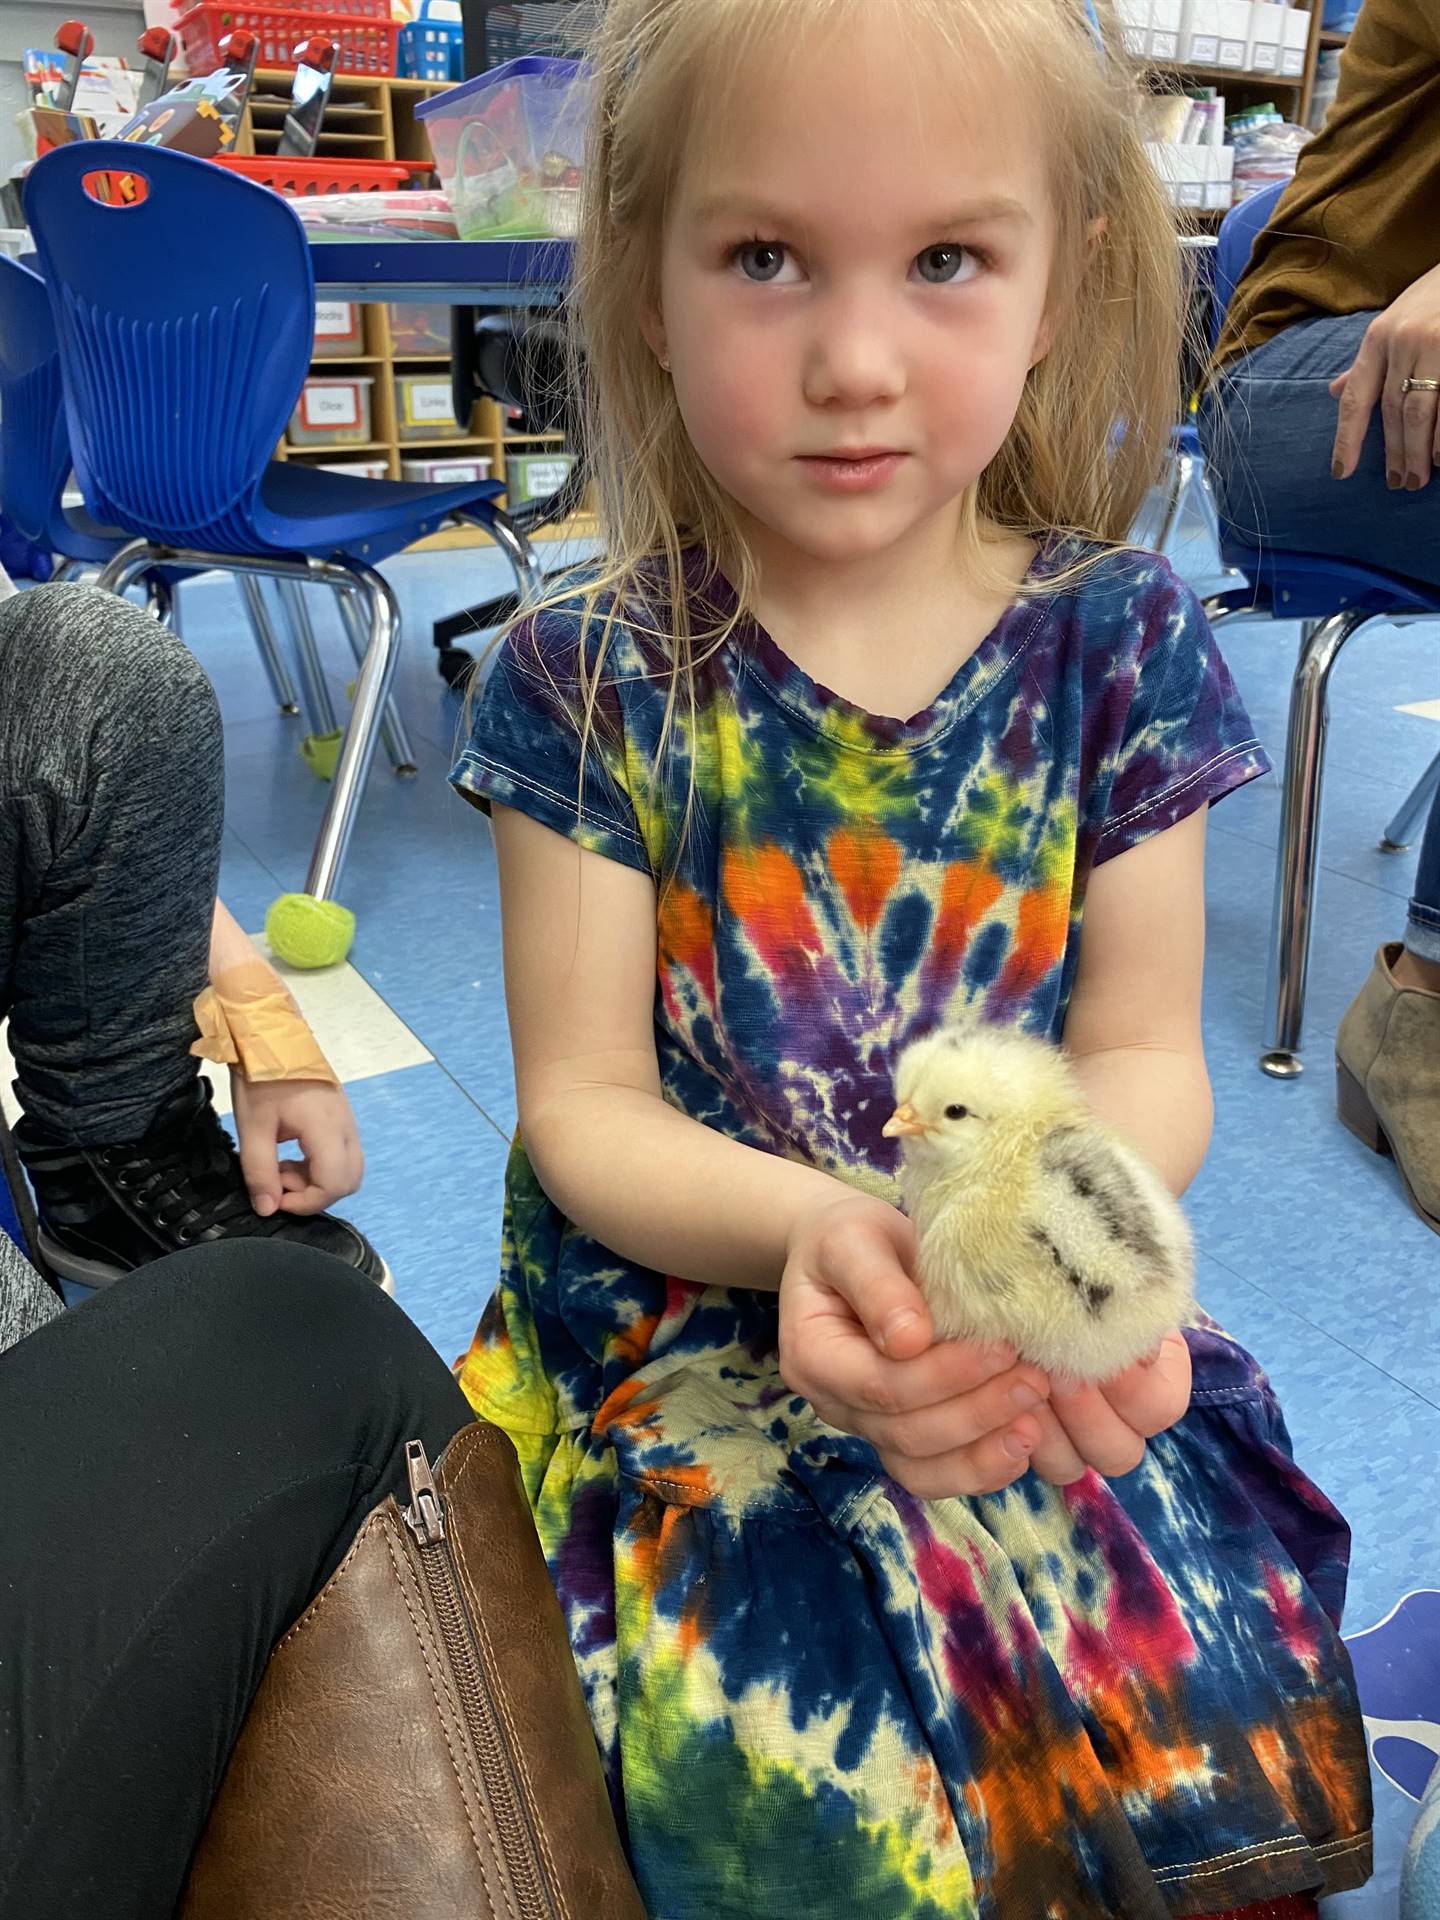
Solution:
{"label": "blue plastic chair at left edge, partly hidden behind another chair", "polygon": [[[60,342],[44,280],[21,261],[0,255],[0,509],[25,540],[60,555],[58,578],[104,568],[129,543],[127,534],[100,526],[83,507],[65,505],[69,472]],[[179,632],[171,576],[157,568],[142,584],[152,612]],[[259,582],[244,584],[259,593]],[[276,705],[284,714],[300,712],[263,603],[261,620],[253,595],[248,605]]]}

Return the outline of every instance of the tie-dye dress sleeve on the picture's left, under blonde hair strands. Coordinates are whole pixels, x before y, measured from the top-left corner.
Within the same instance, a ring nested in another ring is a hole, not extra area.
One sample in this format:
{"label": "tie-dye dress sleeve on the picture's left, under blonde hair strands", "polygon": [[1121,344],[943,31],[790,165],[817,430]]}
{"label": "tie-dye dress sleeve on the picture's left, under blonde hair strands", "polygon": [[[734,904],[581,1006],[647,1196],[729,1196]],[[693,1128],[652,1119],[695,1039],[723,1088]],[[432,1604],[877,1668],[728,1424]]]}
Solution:
{"label": "tie-dye dress sleeve on the picture's left, under blonde hair strands", "polygon": [[551,607],[511,630],[449,780],[482,812],[499,801],[589,852],[651,872],[630,801],[624,710],[611,674],[601,676],[586,733],[584,632],[580,607]]}

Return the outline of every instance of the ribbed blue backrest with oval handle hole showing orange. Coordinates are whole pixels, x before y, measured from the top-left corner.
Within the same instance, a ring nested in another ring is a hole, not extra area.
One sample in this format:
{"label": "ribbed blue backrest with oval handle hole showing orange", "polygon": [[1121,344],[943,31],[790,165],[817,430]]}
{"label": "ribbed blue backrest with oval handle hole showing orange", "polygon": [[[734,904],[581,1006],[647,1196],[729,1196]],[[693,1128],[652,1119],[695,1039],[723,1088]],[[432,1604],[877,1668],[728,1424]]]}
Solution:
{"label": "ribbed blue backrest with oval handle hole showing orange", "polygon": [[[127,177],[132,198],[98,198]],[[84,140],[31,169],[25,211],[90,511],[167,545],[253,545],[315,338],[294,207],[190,154]]]}

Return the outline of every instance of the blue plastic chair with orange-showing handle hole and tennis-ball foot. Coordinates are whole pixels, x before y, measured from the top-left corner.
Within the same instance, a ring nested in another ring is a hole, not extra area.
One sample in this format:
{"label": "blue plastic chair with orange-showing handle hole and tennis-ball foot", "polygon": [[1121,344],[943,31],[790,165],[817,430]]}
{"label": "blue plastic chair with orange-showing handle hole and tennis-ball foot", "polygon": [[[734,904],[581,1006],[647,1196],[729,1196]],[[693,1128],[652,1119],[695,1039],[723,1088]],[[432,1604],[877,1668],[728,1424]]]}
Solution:
{"label": "blue plastic chair with orange-showing handle hole and tennis-ball foot", "polygon": [[[100,180],[123,177],[132,196],[100,198]],[[328,899],[397,660],[399,609],[378,563],[445,520],[474,520],[526,597],[534,553],[497,511],[497,482],[407,486],[271,459],[315,324],[305,228],[278,194],[188,154],[88,140],[31,169],[25,209],[81,492],[96,518],[134,536],[102,586],[121,591],[156,564],[219,566],[323,584],[340,599],[361,672],[305,881]],[[388,732],[403,768],[396,714]]]}

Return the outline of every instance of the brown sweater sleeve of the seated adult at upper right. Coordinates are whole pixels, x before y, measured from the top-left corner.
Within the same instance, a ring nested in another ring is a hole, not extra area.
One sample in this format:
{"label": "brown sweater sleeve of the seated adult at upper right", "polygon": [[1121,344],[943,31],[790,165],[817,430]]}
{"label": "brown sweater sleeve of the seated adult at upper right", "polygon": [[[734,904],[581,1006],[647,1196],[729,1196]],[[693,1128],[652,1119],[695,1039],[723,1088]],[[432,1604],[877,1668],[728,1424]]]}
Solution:
{"label": "brown sweater sleeve of the seated adult at upper right", "polygon": [[1325,131],[1256,240],[1215,361],[1298,321],[1388,307],[1438,263],[1440,0],[1365,0]]}

